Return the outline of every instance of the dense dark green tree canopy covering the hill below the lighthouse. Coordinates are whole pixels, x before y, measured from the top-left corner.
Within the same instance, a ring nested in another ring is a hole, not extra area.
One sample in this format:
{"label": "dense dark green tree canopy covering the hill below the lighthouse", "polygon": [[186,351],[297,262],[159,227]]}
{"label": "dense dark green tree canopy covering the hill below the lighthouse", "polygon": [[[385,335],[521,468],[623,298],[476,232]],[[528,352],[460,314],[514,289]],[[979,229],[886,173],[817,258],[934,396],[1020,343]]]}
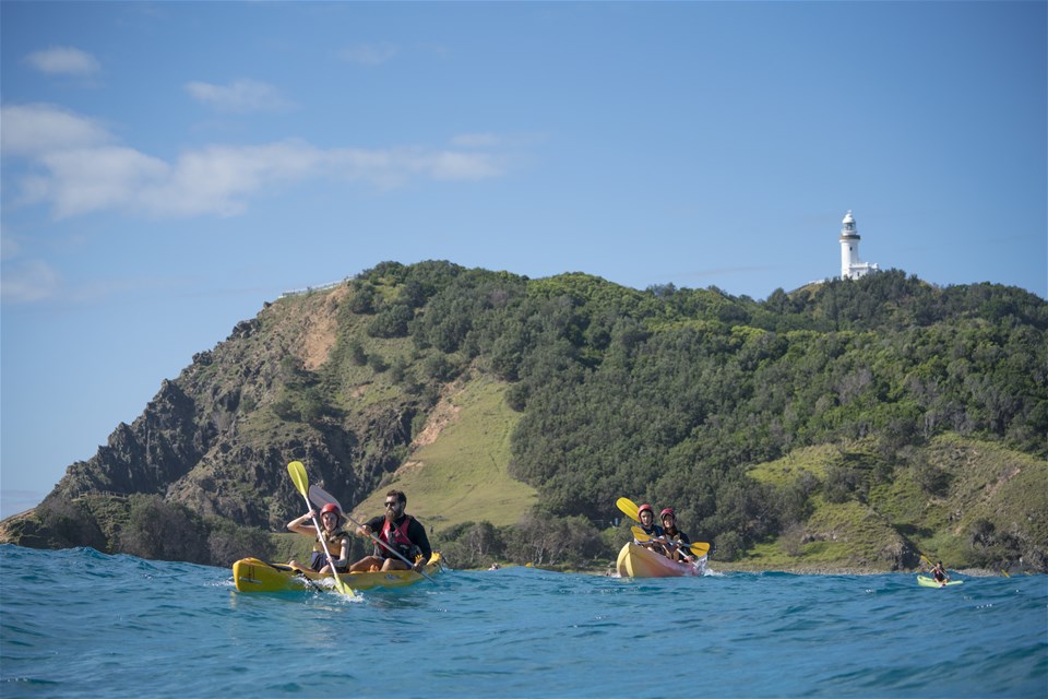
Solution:
{"label": "dense dark green tree canopy covering the hill below the lighthouse", "polygon": [[[805,507],[807,493],[743,481],[791,449],[873,439],[891,464],[949,431],[1048,454],[1048,306],[1021,289],[888,271],[754,301],[452,269],[427,287],[415,342],[516,382],[513,473],[551,514],[608,519],[634,494],[745,547]],[[891,477],[831,475],[835,498]]]}

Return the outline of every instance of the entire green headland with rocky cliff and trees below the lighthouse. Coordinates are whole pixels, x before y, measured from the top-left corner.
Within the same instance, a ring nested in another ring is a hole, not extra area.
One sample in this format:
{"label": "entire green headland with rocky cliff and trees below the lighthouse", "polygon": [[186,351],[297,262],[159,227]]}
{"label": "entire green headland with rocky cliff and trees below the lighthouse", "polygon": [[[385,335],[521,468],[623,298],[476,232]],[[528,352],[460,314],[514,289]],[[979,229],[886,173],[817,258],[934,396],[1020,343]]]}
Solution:
{"label": "entire green headland with rocky cliff and trees below the lighthouse", "polygon": [[361,517],[405,490],[456,567],[603,568],[626,496],[725,565],[1048,571],[1046,334],[897,270],[754,300],[384,262],[237,323],[0,541],[284,557],[298,460]]}

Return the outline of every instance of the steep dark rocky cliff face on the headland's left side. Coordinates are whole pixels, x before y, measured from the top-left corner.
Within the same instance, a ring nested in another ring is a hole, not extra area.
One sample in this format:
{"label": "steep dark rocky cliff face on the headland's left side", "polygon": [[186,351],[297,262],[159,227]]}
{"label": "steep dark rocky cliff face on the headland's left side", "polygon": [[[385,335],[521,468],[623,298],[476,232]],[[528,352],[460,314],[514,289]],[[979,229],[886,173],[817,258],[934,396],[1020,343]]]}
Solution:
{"label": "steep dark rocky cliff face on the headland's left side", "polygon": [[[386,400],[340,410],[324,403],[326,391],[312,388],[337,346],[346,293],[340,286],[266,304],[257,318],[237,323],[226,341],[165,380],[131,425],[121,423],[94,457],[72,464],[45,509],[68,510],[73,506],[63,503],[85,495],[120,500],[146,494],[203,518],[283,531],[302,509],[287,477],[287,463],[296,459],[308,464],[311,482],[337,493],[347,507],[362,498],[400,465],[420,405],[416,395],[394,390]],[[319,407],[303,416],[295,406],[311,395]],[[40,521],[29,520],[8,528],[7,541],[64,541],[49,538]],[[110,541],[108,548],[118,544]]]}

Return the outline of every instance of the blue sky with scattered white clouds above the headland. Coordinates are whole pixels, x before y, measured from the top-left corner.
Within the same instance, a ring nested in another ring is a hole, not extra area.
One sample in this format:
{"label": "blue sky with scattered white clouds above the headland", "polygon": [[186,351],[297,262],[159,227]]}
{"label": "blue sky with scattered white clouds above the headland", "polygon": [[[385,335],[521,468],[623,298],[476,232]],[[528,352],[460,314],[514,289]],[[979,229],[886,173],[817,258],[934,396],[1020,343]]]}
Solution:
{"label": "blue sky with scattered white clouds above the headland", "polygon": [[0,3],[0,514],[287,289],[1048,296],[1045,2]]}

